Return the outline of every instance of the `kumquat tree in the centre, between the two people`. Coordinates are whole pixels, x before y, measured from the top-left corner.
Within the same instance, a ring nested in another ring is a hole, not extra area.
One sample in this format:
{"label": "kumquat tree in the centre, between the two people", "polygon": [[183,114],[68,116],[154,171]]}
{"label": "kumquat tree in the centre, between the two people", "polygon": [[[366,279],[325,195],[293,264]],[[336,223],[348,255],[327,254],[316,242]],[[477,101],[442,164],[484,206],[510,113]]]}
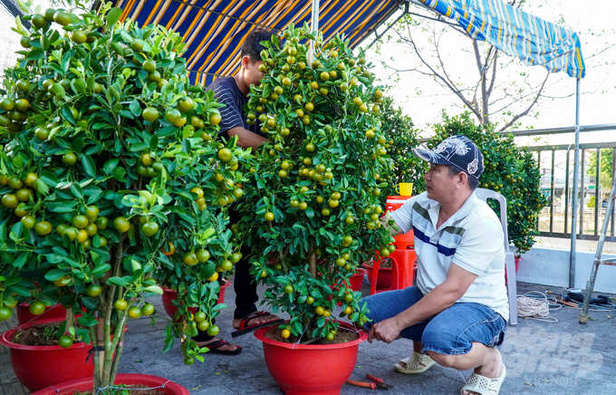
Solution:
{"label": "kumquat tree in the centre, between the two people", "polygon": [[392,166],[381,142],[383,92],[341,36],[323,43],[307,25],[291,26],[284,41],[264,44],[265,77],[251,89],[247,116],[272,142],[250,162],[238,237],[255,251],[265,303],[291,315],[283,338],[331,342],[337,303],[341,317],[366,321],[351,275],[375,250],[394,248],[380,222],[380,174]]}

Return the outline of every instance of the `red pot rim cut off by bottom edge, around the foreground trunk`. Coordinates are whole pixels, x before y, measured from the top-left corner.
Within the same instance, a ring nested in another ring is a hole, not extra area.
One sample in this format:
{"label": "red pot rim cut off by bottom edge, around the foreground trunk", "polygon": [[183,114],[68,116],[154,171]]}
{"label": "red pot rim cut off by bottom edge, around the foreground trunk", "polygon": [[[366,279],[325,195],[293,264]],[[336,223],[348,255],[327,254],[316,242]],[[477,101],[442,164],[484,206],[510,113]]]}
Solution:
{"label": "red pot rim cut off by bottom edge, around the foreground trunk", "polygon": [[[168,381],[156,376],[147,374],[118,374],[116,375],[115,384],[124,385],[145,385],[148,388],[155,388],[168,395],[189,395],[187,389],[179,385],[177,382]],[[82,392],[92,389],[92,378],[83,378],[79,380],[66,381],[62,384],[47,387],[43,390],[38,390],[32,395],[72,395],[74,392]],[[137,391],[139,392],[139,391]]]}

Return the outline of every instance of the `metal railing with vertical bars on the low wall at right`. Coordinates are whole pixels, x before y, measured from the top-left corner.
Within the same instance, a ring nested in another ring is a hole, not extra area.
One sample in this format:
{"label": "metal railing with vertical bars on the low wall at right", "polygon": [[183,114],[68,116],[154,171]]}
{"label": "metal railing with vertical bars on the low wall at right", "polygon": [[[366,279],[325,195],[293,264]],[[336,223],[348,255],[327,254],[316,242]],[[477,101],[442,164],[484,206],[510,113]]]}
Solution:
{"label": "metal railing with vertical bars on the low wall at right", "polygon": [[[616,130],[616,124],[582,126],[580,131]],[[575,128],[522,130],[513,131],[515,137],[555,135],[561,133],[574,133]],[[602,149],[611,149],[611,174],[616,174],[616,142],[585,143],[580,144],[580,169],[578,174],[578,240],[599,240],[599,233],[605,217],[603,195],[609,194],[610,189],[602,191],[601,188],[601,156]],[[542,172],[541,188],[548,198],[548,206],[540,213],[538,230],[540,236],[571,238],[572,207],[573,207],[573,144],[529,146],[535,152],[537,165]],[[587,174],[590,155],[596,156],[592,175]],[[559,170],[559,171],[557,171]],[[564,173],[564,177],[557,177],[557,173]],[[604,193],[602,193],[604,192]],[[588,207],[588,202],[594,196],[594,205]],[[606,201],[607,203],[607,201]],[[616,242],[614,236],[614,218],[611,217],[610,230],[606,241]]]}

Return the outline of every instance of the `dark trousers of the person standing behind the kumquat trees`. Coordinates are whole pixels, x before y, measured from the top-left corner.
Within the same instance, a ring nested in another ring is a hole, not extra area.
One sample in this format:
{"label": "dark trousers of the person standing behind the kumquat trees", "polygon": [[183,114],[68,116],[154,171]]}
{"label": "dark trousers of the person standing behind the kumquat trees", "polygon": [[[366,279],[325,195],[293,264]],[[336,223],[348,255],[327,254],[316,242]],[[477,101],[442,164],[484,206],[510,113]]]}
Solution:
{"label": "dark trousers of the person standing behind the kumquat trees", "polygon": [[[229,217],[231,224],[235,224],[239,220],[239,214],[231,207],[229,210]],[[236,311],[233,313],[233,318],[244,318],[250,313],[256,312],[256,302],[259,300],[259,296],[256,294],[256,282],[255,278],[250,275],[250,261],[247,256],[251,252],[251,248],[248,246],[242,246],[242,259],[236,263],[236,278],[233,283],[233,289],[236,291]],[[212,324],[215,320],[212,320]],[[207,332],[199,331],[197,336],[193,338],[195,342],[207,342],[212,340],[212,336],[209,336]]]}

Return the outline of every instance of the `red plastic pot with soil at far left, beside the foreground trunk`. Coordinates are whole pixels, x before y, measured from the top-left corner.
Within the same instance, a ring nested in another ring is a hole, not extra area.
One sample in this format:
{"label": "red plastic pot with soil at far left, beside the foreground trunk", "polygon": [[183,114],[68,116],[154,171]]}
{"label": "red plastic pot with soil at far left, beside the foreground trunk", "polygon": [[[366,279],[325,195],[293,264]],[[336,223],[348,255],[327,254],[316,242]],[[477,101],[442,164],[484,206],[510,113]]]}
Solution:
{"label": "red plastic pot with soil at far left, beside the foreground trunk", "polygon": [[[0,344],[10,349],[15,376],[31,392],[83,377],[89,377],[91,381],[92,374],[94,374],[94,361],[92,358],[87,363],[85,361],[92,348],[91,344],[75,342],[65,349],[59,345],[28,346],[11,341],[19,328],[27,329],[41,323],[61,323],[62,321],[51,318],[24,323],[0,336]],[[126,332],[126,328],[124,331]]]}

